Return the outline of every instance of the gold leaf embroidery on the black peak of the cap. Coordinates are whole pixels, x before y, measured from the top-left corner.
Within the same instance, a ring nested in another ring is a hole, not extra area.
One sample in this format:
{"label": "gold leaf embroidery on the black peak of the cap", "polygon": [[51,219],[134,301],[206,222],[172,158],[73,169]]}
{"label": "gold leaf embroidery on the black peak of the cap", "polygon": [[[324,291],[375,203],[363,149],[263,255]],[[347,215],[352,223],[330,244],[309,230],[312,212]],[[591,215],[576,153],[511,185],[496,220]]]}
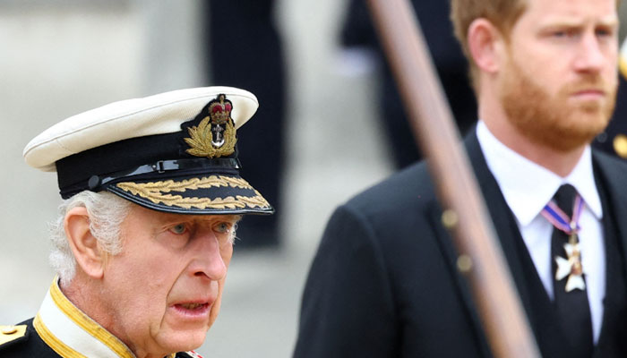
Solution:
{"label": "gold leaf embroidery on the black peak of the cap", "polygon": [[[253,189],[251,184],[241,178],[234,178],[222,175],[210,175],[203,178],[192,178],[175,182],[167,180],[163,182],[151,183],[117,183],[116,186],[125,192],[131,192],[133,195],[139,195],[148,199],[155,204],[162,202],[167,206],[176,206],[185,209],[192,207],[197,209],[236,209],[236,208],[265,208],[270,207],[268,201],[263,199],[262,195]],[[169,192],[186,192],[188,190],[206,189],[211,187],[230,186],[232,188],[250,189],[255,193],[253,197],[245,197],[237,195],[235,198],[228,196],[227,198],[197,198],[186,197],[181,195],[173,195]]]}

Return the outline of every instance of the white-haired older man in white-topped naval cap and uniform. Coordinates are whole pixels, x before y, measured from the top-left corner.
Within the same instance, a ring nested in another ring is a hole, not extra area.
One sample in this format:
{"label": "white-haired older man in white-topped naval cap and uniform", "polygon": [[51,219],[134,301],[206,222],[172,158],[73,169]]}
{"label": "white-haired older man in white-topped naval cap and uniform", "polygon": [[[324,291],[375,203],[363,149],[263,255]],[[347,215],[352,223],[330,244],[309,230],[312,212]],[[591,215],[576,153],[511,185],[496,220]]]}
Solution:
{"label": "white-haired older man in white-topped naval cap and uniform", "polygon": [[57,277],[34,319],[0,327],[3,357],[196,357],[218,316],[245,214],[271,205],[238,172],[258,107],[228,87],[176,90],[65,119],[24,149],[56,171]]}

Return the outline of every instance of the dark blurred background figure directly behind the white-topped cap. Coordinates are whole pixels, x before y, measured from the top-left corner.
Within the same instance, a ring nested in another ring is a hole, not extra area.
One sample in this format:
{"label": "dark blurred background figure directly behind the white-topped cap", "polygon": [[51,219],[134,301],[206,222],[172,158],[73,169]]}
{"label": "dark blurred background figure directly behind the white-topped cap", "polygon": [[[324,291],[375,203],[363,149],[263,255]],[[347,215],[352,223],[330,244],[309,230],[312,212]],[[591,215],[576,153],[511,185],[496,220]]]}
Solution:
{"label": "dark blurred background figure directly behind the white-topped cap", "polygon": [[[262,104],[254,133],[240,134],[242,173],[253,175],[277,214],[249,216],[237,226],[235,250],[279,245],[279,217],[285,163],[286,71],[282,40],[274,21],[274,0],[203,3],[205,57],[213,84],[252,91]],[[250,149],[249,149],[250,148]],[[244,175],[245,175],[244,174]]]}

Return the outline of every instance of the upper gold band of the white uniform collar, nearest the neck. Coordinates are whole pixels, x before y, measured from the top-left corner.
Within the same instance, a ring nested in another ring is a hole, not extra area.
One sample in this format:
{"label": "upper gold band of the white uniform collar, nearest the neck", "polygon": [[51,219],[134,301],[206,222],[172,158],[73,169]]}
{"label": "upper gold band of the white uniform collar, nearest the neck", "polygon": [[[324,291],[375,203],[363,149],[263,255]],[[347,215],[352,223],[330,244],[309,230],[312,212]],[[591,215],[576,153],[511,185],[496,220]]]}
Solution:
{"label": "upper gold band of the white uniform collar, nearest the neck", "polygon": [[84,329],[92,337],[98,339],[104,345],[107,345],[107,347],[109,347],[117,355],[123,358],[135,357],[133,352],[131,352],[131,350],[124,343],[122,343],[122,341],[113,336],[107,331],[107,329],[100,326],[94,320],[91,320],[89,316],[87,316],[76,306],[74,306],[73,303],[71,303],[70,300],[68,300],[61,292],[61,289],[57,284],[56,278],[52,286],[50,287],[50,296],[52,297],[52,301],[56,304],[59,310],[64,312],[64,314],[68,318],[70,318],[70,320],[73,320],[73,322],[76,323],[77,326]]}

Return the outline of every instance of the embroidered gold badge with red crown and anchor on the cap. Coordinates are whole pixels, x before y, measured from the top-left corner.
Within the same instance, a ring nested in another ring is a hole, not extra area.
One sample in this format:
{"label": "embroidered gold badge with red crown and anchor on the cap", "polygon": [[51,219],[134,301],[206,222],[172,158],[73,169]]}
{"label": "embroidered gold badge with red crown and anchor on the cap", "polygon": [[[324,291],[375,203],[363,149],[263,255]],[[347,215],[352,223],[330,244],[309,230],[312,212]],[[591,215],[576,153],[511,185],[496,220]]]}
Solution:
{"label": "embroidered gold badge with red crown and anchor on the cap", "polygon": [[191,147],[186,152],[196,157],[219,158],[235,151],[236,129],[231,118],[233,104],[224,94],[209,103],[209,115],[198,126],[189,127],[190,138],[185,142]]}

